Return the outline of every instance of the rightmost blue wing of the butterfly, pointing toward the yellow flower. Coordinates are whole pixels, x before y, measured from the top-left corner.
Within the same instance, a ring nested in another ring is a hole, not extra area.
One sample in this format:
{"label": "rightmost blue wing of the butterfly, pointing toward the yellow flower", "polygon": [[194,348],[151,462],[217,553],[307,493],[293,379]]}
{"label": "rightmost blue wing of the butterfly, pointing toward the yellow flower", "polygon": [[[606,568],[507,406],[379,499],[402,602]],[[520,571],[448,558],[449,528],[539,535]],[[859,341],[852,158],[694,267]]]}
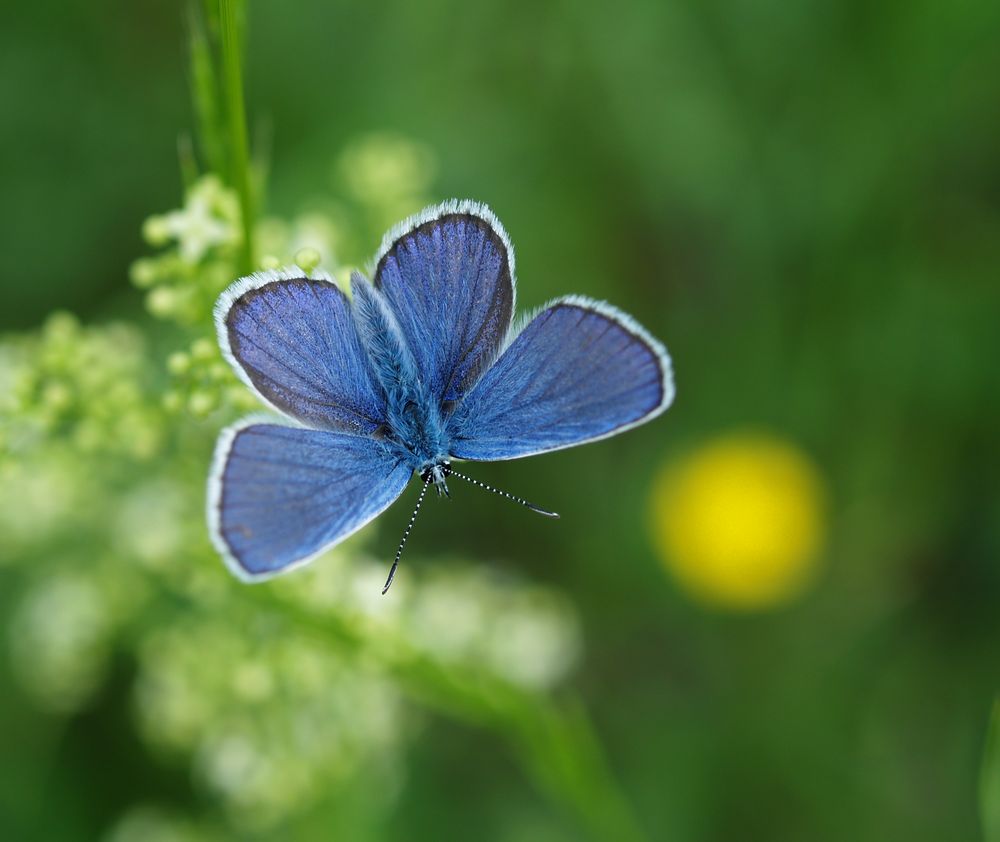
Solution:
{"label": "rightmost blue wing of the butterfly, pointing toward the yellow flower", "polygon": [[608,304],[570,296],[541,310],[449,421],[452,455],[493,461],[606,438],[673,400],[666,348]]}

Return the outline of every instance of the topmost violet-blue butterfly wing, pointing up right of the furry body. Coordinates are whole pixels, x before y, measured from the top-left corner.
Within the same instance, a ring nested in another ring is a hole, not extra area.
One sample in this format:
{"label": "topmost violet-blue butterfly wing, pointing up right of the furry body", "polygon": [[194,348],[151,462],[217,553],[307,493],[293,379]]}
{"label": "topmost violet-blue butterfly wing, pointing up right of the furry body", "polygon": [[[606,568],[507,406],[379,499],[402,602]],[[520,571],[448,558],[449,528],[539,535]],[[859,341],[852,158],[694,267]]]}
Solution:
{"label": "topmost violet-blue butterfly wing, pointing up right of the furry body", "polygon": [[475,202],[428,208],[386,235],[374,284],[430,394],[457,401],[510,328],[514,255],[503,226]]}

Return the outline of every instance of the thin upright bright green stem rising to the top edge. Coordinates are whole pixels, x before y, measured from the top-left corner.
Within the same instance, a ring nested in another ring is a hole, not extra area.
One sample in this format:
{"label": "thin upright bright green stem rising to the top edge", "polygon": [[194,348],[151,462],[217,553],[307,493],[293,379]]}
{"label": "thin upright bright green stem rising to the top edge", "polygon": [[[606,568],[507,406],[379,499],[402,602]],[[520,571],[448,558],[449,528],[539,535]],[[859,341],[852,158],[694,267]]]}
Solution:
{"label": "thin upright bright green stem rising to the top edge", "polygon": [[240,199],[243,223],[243,253],[240,271],[253,271],[254,206],[250,184],[250,151],[247,142],[246,106],[243,99],[243,46],[237,19],[239,0],[219,0],[219,29],[222,34],[222,84],[229,122],[230,167],[233,187]]}

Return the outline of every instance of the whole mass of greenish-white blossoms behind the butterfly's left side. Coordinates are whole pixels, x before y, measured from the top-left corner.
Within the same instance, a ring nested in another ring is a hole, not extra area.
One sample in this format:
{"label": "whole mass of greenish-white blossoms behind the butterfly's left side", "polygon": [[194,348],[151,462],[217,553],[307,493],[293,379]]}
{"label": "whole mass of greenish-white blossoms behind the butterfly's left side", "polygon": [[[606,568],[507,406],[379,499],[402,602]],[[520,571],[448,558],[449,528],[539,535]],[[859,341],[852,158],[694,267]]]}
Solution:
{"label": "whole mass of greenish-white blossoms behind the butterfly's left side", "polygon": [[[347,205],[259,222],[261,261],[342,277],[350,263],[339,261],[363,262],[390,222],[427,203],[433,161],[419,144],[373,135],[333,175]],[[368,775],[372,809],[387,809],[420,725],[420,707],[404,701],[493,727],[494,690],[522,710],[544,707],[579,659],[576,616],[548,589],[416,556],[383,597],[386,566],[365,550],[372,528],[274,583],[233,580],[208,541],[203,495],[214,433],[249,394],[210,320],[237,274],[238,203],[205,176],[144,233],[162,251],[133,265],[133,281],[153,315],[181,326],[165,366],[148,359],[137,326],[85,327],[68,314],[0,340],[0,563],[20,577],[6,623],[15,677],[39,706],[70,714],[100,689],[112,653],[133,658],[140,734],[188,762],[224,808],[209,825],[139,804],[112,842],[273,833]],[[202,423],[210,413],[219,424]]]}

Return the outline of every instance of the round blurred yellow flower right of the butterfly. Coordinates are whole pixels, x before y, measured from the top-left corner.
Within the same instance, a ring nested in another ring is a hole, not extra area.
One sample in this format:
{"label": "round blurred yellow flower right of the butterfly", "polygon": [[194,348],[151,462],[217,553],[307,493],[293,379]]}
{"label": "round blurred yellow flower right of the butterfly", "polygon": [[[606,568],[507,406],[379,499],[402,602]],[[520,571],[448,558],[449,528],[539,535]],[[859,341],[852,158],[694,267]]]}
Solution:
{"label": "round blurred yellow flower right of the butterfly", "polygon": [[761,610],[798,596],[824,533],[822,479],[806,454],[768,435],[716,439],[657,478],[653,533],[695,599]]}

